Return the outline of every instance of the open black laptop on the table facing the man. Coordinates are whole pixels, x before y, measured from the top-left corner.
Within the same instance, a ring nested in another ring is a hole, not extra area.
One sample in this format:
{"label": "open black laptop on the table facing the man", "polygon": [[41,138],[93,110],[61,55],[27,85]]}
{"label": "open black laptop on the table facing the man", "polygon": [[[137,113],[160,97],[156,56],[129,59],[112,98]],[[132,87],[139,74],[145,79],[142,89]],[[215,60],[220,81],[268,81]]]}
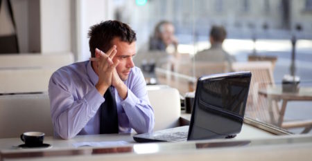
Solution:
{"label": "open black laptop on the table facing the man", "polygon": [[241,132],[252,74],[222,73],[197,81],[189,126],[134,135],[136,142],[234,138]]}

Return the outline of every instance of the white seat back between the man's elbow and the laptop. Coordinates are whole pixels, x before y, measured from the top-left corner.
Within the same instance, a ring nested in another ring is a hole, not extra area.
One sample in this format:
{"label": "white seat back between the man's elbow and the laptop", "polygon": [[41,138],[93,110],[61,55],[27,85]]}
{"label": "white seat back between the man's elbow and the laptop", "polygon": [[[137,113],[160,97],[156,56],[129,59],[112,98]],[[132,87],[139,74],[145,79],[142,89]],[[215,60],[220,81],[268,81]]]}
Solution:
{"label": "white seat back between the man's elbow and the laptop", "polygon": [[148,98],[155,115],[154,131],[180,125],[180,94],[175,88],[148,86]]}

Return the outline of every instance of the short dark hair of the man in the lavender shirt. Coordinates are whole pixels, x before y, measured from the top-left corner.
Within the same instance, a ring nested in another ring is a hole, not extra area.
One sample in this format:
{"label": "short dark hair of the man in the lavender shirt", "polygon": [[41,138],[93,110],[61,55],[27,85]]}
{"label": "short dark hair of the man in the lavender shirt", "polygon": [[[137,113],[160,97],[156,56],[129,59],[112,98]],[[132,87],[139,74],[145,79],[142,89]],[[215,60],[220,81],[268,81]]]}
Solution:
{"label": "short dark hair of the man in the lavender shirt", "polygon": [[121,41],[131,44],[137,41],[135,31],[121,21],[102,21],[94,26],[91,26],[89,33],[89,48],[91,56],[95,57],[95,49],[98,48],[106,53],[112,48],[112,40],[119,37]]}

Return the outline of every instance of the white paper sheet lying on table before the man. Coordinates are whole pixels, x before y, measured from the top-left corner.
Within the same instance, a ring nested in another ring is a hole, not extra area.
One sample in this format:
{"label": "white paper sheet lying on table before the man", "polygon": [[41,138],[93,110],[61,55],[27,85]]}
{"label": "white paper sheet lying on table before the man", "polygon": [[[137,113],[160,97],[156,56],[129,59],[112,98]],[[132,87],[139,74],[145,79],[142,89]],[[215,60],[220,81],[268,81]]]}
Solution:
{"label": "white paper sheet lying on table before the man", "polygon": [[73,146],[78,148],[80,146],[92,146],[92,147],[105,147],[105,146],[122,146],[129,144],[125,141],[116,141],[116,142],[76,142],[73,143]]}

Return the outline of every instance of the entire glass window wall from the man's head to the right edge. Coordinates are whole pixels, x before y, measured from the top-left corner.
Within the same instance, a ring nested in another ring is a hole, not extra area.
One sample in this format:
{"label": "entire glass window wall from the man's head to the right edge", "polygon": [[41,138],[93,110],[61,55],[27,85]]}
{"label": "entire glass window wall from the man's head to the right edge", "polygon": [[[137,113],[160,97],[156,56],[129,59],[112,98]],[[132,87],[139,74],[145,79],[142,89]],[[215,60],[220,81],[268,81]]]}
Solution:
{"label": "entire glass window wall from the man's head to the right edge", "polygon": [[[133,7],[128,12],[120,7],[116,18],[137,32],[135,64],[147,84],[167,84],[185,96],[202,75],[250,70],[245,116],[312,133],[312,15],[302,12],[307,1],[119,2]],[[285,75],[300,77],[299,84],[288,87],[295,90],[291,93],[284,85],[293,81]]]}

